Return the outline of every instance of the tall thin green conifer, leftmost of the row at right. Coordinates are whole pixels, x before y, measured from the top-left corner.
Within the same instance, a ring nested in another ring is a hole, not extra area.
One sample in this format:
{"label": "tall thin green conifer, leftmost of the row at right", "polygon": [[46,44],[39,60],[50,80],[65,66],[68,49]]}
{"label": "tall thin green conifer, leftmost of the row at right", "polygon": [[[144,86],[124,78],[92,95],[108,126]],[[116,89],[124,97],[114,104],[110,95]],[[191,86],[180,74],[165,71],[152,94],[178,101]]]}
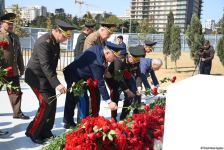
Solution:
{"label": "tall thin green conifer, leftmost of the row at right", "polygon": [[171,28],[174,24],[174,17],[173,12],[171,11],[167,16],[167,25],[166,31],[164,33],[164,41],[163,41],[163,55],[164,55],[164,62],[165,62],[165,69],[167,69],[167,57],[170,55],[170,45],[171,41]]}

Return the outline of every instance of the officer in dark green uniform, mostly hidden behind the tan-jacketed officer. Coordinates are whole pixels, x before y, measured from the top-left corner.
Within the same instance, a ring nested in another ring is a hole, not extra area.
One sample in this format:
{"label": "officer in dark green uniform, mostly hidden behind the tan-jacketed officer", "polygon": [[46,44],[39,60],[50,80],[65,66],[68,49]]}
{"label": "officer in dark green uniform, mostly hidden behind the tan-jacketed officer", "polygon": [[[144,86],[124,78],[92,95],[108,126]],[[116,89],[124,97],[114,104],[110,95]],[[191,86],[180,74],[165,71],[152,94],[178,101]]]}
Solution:
{"label": "officer in dark green uniform, mostly hidden behind the tan-jacketed officer", "polygon": [[74,49],[75,57],[79,56],[83,52],[84,42],[86,37],[93,32],[95,24],[94,23],[86,23],[84,25],[84,29],[82,33],[78,36],[76,46]]}

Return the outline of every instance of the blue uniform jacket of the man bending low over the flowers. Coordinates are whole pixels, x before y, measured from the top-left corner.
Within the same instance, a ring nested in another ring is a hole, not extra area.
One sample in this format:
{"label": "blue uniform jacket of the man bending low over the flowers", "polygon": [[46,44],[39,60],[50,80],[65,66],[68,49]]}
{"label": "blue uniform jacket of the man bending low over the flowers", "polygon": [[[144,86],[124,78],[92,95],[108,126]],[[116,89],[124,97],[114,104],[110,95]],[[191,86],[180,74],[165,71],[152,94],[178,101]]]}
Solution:
{"label": "blue uniform jacket of the man bending low over the flowers", "polygon": [[[65,80],[68,85],[81,79],[89,78],[98,80],[98,88],[103,100],[108,100],[109,94],[104,82],[105,58],[103,47],[94,45],[64,69]],[[68,83],[69,82],[69,83]]]}

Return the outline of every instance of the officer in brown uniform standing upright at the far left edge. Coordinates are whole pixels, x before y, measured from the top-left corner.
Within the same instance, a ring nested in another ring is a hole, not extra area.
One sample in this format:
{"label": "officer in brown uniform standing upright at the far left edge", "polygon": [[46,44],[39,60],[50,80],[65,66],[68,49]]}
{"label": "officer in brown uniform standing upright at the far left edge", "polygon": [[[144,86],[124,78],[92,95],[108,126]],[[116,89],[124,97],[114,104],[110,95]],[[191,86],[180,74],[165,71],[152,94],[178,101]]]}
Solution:
{"label": "officer in brown uniform standing upright at the far left edge", "polygon": [[[8,46],[3,47],[4,58],[1,61],[3,67],[12,67],[13,76],[6,77],[8,82],[12,82],[12,86],[17,87],[16,90],[7,88],[7,93],[13,109],[13,118],[29,119],[21,111],[22,92],[20,88],[19,77],[24,74],[24,63],[20,47],[19,37],[13,33],[13,21],[16,17],[14,13],[8,13],[0,17],[0,41],[7,41]],[[1,89],[2,87],[0,87]]]}

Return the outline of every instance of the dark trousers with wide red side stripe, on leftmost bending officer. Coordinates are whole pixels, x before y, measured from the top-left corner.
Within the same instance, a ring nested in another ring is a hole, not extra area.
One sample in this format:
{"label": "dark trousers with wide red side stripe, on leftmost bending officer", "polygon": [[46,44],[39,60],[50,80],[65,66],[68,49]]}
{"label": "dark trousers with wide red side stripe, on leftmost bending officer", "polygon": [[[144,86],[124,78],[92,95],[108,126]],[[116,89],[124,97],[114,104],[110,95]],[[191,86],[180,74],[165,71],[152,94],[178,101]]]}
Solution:
{"label": "dark trousers with wide red side stripe, on leftmost bending officer", "polygon": [[55,121],[57,100],[50,97],[55,96],[55,92],[40,92],[37,88],[32,88],[38,98],[39,108],[36,116],[26,129],[26,134],[33,138],[41,138],[51,133]]}

